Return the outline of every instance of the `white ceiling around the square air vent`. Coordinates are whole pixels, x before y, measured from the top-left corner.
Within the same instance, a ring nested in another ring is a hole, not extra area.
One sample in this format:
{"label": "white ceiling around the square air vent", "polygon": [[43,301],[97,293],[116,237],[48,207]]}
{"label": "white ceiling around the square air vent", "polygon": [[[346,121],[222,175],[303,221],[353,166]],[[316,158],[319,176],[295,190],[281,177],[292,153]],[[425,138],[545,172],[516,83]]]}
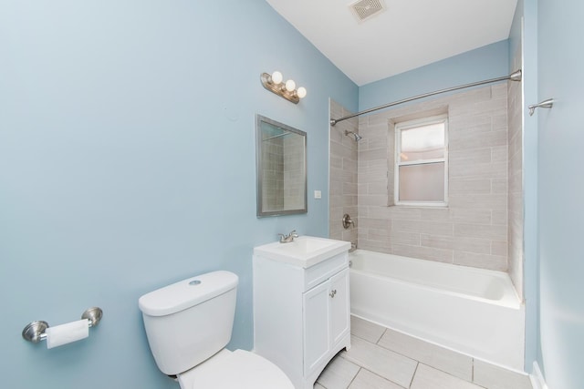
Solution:
{"label": "white ceiling around the square air vent", "polygon": [[266,0],[358,86],[509,36],[517,0],[383,0],[359,22],[356,0]]}

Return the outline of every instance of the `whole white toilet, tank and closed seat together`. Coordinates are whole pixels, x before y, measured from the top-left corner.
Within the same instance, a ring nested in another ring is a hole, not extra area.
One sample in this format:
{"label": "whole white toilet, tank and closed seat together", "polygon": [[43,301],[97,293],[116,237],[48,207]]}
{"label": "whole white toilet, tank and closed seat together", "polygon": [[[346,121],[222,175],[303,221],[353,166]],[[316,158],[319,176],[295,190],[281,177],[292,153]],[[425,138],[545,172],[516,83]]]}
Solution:
{"label": "whole white toilet, tank and closed seat together", "polygon": [[294,389],[274,363],[231,340],[237,276],[213,271],[141,296],[138,305],[154,361],[182,389]]}

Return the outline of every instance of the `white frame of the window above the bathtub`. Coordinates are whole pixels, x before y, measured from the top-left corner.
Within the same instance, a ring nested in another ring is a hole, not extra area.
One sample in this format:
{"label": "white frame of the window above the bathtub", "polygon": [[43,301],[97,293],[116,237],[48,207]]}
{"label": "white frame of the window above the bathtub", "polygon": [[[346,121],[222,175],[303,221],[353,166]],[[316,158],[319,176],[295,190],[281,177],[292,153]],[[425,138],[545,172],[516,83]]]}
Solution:
{"label": "white frame of the window above the bathtub", "polygon": [[[413,162],[401,162],[401,131],[405,129],[419,128],[430,126],[433,124],[443,124],[444,126],[444,156],[442,159],[418,159]],[[435,115],[426,118],[417,118],[413,120],[407,120],[395,123],[395,158],[393,166],[393,204],[404,205],[404,206],[414,206],[414,207],[447,207],[448,206],[448,114]],[[428,165],[432,163],[444,164],[444,200],[441,201],[429,201],[429,200],[400,200],[400,167],[401,166],[421,166]]]}

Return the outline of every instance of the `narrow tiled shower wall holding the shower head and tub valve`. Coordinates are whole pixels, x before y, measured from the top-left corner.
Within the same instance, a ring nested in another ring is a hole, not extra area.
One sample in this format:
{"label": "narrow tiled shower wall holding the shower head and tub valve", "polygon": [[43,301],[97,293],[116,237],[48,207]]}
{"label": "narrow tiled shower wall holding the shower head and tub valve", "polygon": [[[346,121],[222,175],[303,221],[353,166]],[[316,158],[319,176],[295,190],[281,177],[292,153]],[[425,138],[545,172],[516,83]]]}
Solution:
{"label": "narrow tiled shower wall holding the shower head and tub valve", "polygon": [[[330,118],[342,118],[350,115],[335,101],[330,100]],[[351,118],[339,122],[330,128],[329,145],[329,236],[331,239],[351,241],[357,243],[357,149],[358,143],[351,137],[345,136],[345,130],[358,132],[358,119]],[[348,213],[355,227],[348,230],[342,227],[342,218]]]}

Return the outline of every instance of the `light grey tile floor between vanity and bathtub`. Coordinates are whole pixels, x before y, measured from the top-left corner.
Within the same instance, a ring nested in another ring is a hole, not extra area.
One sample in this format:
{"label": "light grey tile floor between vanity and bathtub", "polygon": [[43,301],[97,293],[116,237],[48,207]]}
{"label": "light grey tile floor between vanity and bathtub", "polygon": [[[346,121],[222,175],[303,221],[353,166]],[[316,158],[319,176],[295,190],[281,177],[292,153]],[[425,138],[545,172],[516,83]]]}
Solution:
{"label": "light grey tile floor between vanity and bathtub", "polygon": [[314,389],[532,389],[529,377],[351,316],[351,348]]}

